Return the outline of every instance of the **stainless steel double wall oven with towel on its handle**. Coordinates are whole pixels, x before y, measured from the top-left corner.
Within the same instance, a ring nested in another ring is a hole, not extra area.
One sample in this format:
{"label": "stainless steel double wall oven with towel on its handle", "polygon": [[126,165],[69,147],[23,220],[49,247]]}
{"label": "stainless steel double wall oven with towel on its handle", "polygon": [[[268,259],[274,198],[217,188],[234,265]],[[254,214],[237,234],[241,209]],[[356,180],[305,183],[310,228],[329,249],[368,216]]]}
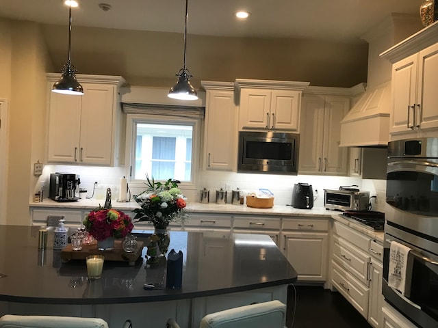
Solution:
{"label": "stainless steel double wall oven with towel on its handle", "polygon": [[[438,138],[389,143],[385,219],[383,296],[417,327],[438,327]],[[404,292],[388,284],[392,242],[410,249]]]}

